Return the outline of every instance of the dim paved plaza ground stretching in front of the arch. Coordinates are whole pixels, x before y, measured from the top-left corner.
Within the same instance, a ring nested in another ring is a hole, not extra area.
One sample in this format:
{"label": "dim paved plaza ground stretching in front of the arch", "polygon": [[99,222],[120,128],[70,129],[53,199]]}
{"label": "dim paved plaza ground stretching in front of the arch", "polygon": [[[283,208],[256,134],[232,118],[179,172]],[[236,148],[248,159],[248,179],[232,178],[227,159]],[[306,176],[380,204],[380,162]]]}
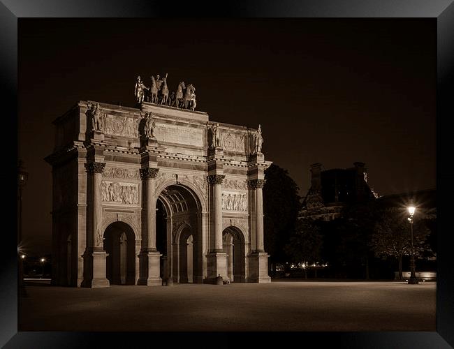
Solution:
{"label": "dim paved plaza ground stretching in front of the arch", "polygon": [[20,331],[436,331],[436,283],[27,283]]}

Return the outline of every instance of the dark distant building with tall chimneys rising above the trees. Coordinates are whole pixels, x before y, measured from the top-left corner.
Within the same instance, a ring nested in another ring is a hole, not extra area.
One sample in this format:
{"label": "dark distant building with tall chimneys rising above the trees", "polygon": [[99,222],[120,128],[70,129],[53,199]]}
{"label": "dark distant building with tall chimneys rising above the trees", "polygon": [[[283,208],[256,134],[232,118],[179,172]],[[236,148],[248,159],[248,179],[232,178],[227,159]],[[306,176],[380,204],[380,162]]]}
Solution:
{"label": "dark distant building with tall chimneys rising above the trees", "polygon": [[365,163],[331,170],[322,170],[321,163],[314,163],[311,174],[311,187],[302,201],[300,218],[332,221],[341,216],[345,205],[379,197],[367,184]]}

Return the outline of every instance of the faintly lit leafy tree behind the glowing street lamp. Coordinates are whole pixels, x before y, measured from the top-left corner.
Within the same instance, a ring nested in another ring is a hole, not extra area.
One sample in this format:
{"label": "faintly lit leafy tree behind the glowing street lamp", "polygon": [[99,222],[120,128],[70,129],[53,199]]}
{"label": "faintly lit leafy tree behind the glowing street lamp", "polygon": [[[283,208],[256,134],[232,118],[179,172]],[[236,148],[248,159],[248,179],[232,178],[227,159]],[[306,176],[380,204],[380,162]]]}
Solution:
{"label": "faintly lit leafy tree behind the glowing street lamp", "polygon": [[[411,227],[407,216],[395,211],[381,213],[376,223],[370,246],[378,257],[394,257],[399,265],[398,279],[402,280],[402,257],[411,255]],[[422,220],[414,219],[413,253],[415,257],[430,251],[427,237],[430,230]]]}

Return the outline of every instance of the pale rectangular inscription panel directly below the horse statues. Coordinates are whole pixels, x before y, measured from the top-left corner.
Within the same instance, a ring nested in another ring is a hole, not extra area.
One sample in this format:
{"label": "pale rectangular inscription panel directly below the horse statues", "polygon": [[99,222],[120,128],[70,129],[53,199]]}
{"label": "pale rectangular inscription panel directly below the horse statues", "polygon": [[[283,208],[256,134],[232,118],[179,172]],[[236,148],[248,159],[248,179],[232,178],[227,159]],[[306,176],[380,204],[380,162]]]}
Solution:
{"label": "pale rectangular inscription panel directly below the horse statues", "polygon": [[203,147],[205,130],[201,128],[177,126],[172,124],[158,124],[154,129],[154,136],[158,142]]}

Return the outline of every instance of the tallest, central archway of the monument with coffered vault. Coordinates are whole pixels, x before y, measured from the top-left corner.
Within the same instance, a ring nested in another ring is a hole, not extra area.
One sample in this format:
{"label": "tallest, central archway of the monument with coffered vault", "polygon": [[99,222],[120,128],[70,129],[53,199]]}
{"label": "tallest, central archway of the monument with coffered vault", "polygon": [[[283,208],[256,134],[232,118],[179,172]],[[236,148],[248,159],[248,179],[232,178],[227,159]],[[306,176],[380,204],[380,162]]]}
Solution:
{"label": "tallest, central archway of the monument with coffered vault", "polygon": [[168,283],[203,283],[202,206],[183,184],[161,191],[156,202],[156,248],[161,278]]}

